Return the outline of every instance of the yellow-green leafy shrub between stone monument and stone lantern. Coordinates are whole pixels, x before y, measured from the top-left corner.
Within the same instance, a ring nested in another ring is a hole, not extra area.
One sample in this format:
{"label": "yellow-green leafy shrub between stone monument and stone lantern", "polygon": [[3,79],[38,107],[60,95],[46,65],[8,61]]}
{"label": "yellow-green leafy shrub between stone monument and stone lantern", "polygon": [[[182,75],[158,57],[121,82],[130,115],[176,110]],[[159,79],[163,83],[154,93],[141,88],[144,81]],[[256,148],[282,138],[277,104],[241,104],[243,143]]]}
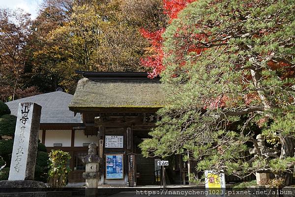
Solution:
{"label": "yellow-green leafy shrub between stone monument and stone lantern", "polygon": [[67,174],[71,170],[67,165],[71,156],[68,152],[51,150],[49,153],[48,186],[60,188],[66,185]]}

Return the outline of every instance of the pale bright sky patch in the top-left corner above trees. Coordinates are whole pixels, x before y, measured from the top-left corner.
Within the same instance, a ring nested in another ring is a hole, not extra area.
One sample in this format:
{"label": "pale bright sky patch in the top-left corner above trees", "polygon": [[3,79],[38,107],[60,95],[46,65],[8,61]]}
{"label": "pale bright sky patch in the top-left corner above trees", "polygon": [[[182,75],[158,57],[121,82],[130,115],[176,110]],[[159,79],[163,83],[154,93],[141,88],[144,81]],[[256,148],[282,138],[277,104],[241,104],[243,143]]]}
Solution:
{"label": "pale bright sky patch in the top-left corner above trees", "polygon": [[0,8],[23,9],[31,14],[31,19],[36,18],[39,6],[43,0],[0,0]]}

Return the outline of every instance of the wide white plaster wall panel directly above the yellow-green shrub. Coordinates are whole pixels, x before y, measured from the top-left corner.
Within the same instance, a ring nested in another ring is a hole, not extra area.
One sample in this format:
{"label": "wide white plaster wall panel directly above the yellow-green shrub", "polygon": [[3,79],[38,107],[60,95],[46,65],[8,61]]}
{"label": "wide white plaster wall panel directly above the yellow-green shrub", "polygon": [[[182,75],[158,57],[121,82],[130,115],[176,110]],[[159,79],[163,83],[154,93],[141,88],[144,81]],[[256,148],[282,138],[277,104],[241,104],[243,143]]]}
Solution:
{"label": "wide white plaster wall panel directly above the yellow-green shrub", "polygon": [[62,147],[71,146],[72,130],[46,130],[45,146],[53,147],[54,143],[62,143]]}

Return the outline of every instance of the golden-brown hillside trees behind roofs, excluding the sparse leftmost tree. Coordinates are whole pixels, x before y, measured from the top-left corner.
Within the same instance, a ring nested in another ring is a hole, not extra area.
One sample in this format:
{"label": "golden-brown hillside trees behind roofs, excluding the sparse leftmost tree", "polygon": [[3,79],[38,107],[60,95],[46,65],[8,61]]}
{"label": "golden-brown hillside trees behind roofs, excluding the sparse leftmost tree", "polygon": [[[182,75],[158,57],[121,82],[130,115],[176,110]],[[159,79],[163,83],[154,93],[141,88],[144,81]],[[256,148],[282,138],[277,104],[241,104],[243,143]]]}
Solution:
{"label": "golden-brown hillside trees behind roofs, excluding the sparse leftmost tree", "polygon": [[[161,1],[141,3],[141,0],[71,1],[69,11],[61,13],[65,20],[58,20],[56,28],[44,29],[47,34],[42,36],[43,46],[33,52],[33,78],[42,79],[39,73],[47,73],[50,79],[57,80],[55,84],[73,92],[79,79],[75,70],[145,70],[139,59],[148,43],[138,29],[160,26],[158,19],[162,20],[163,14],[158,11]],[[38,31],[44,32],[38,28],[48,16],[44,12],[49,8],[52,12],[59,6],[53,1],[40,12],[36,20],[39,22],[35,23],[37,31],[33,33],[37,39],[38,34],[42,35]]]}

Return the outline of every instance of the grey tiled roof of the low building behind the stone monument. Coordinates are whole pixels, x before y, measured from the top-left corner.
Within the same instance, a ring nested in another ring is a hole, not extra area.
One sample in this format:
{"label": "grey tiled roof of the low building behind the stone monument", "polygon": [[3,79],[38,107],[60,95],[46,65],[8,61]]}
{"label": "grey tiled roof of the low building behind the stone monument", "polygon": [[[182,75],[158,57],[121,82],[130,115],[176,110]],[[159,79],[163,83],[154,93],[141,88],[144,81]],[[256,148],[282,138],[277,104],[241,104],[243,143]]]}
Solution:
{"label": "grey tiled roof of the low building behind the stone monument", "polygon": [[42,106],[40,123],[82,123],[79,113],[74,116],[68,108],[73,95],[55,91],[7,102],[11,114],[17,115],[19,103],[34,102]]}

